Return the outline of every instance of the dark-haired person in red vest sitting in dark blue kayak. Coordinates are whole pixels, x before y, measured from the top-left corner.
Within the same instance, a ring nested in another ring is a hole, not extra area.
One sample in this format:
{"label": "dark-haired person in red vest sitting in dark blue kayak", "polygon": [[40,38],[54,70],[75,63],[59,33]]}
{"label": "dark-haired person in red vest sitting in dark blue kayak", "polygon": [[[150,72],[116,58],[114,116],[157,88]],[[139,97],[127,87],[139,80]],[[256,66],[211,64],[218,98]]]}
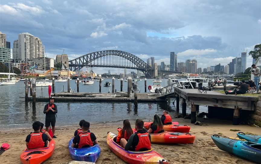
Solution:
{"label": "dark-haired person in red vest sitting in dark blue kayak", "polygon": [[98,141],[93,133],[89,133],[90,123],[85,121],[82,123],[82,133],[78,134],[72,140],[72,147],[85,148],[98,144]]}

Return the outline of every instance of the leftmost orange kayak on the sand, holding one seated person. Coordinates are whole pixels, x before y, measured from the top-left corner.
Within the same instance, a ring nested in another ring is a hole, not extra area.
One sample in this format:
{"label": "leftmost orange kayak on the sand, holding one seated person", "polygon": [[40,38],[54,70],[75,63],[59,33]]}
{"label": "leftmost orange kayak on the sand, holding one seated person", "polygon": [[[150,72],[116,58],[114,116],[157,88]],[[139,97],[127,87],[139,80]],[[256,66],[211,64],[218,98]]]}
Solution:
{"label": "leftmost orange kayak on the sand, holding one seated person", "polygon": [[20,160],[23,164],[40,164],[50,158],[54,151],[55,142],[51,140],[48,147],[40,149],[25,149],[21,155]]}

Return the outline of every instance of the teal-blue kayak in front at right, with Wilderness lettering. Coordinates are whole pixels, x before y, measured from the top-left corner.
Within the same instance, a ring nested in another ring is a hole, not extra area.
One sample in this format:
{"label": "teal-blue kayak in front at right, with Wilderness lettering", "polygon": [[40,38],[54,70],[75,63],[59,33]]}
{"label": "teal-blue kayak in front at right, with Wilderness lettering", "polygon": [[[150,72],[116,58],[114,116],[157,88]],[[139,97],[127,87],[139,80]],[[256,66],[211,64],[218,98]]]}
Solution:
{"label": "teal-blue kayak in front at right, with Wilderness lettering", "polygon": [[211,136],[219,149],[234,154],[241,158],[261,163],[261,144],[237,139],[221,138],[218,135]]}

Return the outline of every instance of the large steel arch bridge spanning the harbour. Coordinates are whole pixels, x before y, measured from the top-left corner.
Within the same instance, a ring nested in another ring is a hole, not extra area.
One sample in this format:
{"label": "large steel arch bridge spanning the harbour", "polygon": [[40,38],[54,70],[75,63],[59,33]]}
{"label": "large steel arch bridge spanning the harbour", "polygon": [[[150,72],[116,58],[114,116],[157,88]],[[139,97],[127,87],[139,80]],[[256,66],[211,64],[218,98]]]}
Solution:
{"label": "large steel arch bridge spanning the harbour", "polygon": [[71,71],[77,71],[83,67],[113,67],[135,69],[142,71],[147,78],[156,77],[158,74],[163,76],[166,74],[180,73],[176,71],[159,71],[157,68],[153,68],[148,65],[139,57],[128,52],[118,50],[91,52],[69,61],[69,68]]}

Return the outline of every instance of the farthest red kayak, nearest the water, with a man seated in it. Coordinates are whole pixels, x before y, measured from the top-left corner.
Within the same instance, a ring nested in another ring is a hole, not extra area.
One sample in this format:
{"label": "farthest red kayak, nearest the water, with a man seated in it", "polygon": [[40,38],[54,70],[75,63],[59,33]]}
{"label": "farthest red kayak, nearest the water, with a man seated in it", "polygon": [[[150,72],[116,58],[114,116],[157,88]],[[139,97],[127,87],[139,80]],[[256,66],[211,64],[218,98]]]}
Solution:
{"label": "farthest red kayak, nearest the water, with a man seated in it", "polygon": [[[152,124],[152,122],[144,122],[143,127],[145,129],[149,129],[150,124]],[[164,131],[168,131],[168,132],[188,133],[190,130],[190,126],[188,125],[181,126],[179,125],[178,122],[172,122],[172,125],[163,125],[163,129]]]}

